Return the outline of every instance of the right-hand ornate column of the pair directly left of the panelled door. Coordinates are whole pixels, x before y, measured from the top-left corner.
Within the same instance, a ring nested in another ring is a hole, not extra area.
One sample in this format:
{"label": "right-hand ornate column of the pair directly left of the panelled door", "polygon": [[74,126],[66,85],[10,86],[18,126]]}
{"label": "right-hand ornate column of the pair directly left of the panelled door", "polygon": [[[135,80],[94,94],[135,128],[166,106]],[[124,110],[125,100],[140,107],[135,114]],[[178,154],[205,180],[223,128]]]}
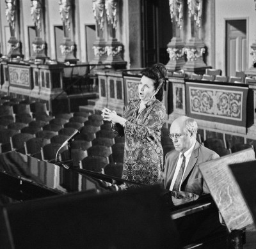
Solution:
{"label": "right-hand ornate column of the pair directly left of the panelled door", "polygon": [[198,34],[202,27],[202,0],[188,0],[188,12],[191,21],[191,39],[185,46],[184,52],[188,61],[184,65],[187,72],[204,73],[206,64],[203,61],[205,44]]}

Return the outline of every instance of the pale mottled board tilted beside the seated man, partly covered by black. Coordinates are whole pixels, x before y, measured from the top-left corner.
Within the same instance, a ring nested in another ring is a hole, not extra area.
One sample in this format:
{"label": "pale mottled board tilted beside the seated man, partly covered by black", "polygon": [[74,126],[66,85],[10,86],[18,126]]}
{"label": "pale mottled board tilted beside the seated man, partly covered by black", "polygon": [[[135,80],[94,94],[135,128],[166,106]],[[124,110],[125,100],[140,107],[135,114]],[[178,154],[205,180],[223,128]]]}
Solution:
{"label": "pale mottled board tilted beside the seated man, partly covered by black", "polygon": [[199,165],[229,232],[253,223],[253,218],[228,165],[252,160],[255,160],[255,152],[245,149]]}

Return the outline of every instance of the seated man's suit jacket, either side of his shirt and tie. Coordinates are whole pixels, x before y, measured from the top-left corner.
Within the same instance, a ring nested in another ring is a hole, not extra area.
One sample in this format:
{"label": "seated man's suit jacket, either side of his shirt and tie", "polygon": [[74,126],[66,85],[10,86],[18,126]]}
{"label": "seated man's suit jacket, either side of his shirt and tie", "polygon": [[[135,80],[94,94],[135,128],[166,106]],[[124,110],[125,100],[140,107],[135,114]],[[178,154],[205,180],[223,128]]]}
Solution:
{"label": "seated man's suit jacket, either side of his shirt and tie", "polygon": [[[198,165],[218,157],[220,156],[217,153],[211,149],[207,149],[207,147],[202,146],[199,144],[199,142],[196,141],[195,147],[188,162],[188,166],[186,167],[184,177],[182,179],[180,191],[196,193],[196,195],[209,193],[209,189],[205,184]],[[162,179],[164,181],[164,188],[167,190],[170,189],[178,159],[179,151],[173,150],[166,154],[164,163],[164,175],[162,176]]]}

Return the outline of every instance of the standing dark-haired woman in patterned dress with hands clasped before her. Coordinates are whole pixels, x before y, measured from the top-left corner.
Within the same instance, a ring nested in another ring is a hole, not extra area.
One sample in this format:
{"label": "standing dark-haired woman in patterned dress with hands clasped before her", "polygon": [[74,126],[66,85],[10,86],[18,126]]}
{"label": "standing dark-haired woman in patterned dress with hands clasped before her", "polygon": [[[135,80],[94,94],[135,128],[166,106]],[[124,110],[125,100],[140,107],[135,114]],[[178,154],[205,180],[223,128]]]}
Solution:
{"label": "standing dark-haired woman in patterned dress with hands clasped before her", "polygon": [[165,117],[161,101],[166,87],[166,68],[157,63],[145,68],[141,74],[140,99],[129,102],[124,117],[107,108],[102,110],[102,117],[111,121],[118,136],[125,136],[122,179],[153,185],[163,170],[160,135]]}

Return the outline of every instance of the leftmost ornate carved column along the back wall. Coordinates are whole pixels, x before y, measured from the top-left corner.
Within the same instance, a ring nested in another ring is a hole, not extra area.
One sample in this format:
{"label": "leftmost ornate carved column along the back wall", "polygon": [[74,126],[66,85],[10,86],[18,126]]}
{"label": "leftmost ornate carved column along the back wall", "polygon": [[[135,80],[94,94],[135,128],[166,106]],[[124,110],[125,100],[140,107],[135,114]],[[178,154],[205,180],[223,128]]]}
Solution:
{"label": "leftmost ornate carved column along the back wall", "polygon": [[8,40],[8,47],[10,48],[7,56],[8,57],[23,57],[20,53],[20,41],[17,40],[15,34],[16,34],[16,20],[17,20],[17,4],[16,0],[5,0],[6,3],[6,10],[5,15],[7,22],[10,26],[10,33],[11,37],[10,40]]}

